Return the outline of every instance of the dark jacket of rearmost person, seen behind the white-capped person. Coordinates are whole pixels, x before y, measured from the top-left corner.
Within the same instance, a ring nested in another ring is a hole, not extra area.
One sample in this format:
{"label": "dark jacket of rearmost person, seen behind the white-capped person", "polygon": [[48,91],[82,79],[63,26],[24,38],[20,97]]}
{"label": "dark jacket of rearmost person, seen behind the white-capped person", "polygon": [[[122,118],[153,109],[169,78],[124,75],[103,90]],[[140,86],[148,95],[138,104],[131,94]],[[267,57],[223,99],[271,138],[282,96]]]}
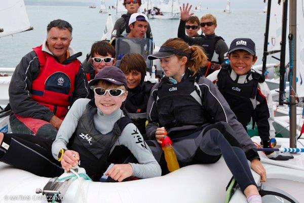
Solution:
{"label": "dark jacket of rearmost person, seen behind the white-capped person", "polygon": [[[117,38],[123,34],[127,35],[130,32],[130,30],[128,29],[130,16],[131,16],[131,14],[127,13],[127,14],[122,15],[121,18],[117,19],[117,21],[115,22],[114,27],[113,27],[111,38],[114,38],[114,37]],[[149,24],[148,24],[145,38],[153,38],[152,32],[151,32],[151,27]]]}

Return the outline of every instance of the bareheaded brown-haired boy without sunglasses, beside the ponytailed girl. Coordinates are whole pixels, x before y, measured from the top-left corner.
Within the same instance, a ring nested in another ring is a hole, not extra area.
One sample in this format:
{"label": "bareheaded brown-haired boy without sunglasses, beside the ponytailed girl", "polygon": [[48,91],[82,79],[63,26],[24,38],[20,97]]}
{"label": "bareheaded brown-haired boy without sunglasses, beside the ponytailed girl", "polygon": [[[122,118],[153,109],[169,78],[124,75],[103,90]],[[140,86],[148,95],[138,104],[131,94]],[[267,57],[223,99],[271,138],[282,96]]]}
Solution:
{"label": "bareheaded brown-haired boy without sunglasses, beside the ponytailed girl", "polygon": [[153,87],[151,82],[144,82],[146,62],[140,54],[128,53],[122,58],[119,67],[125,73],[129,92],[124,113],[131,118],[145,139],[147,103]]}

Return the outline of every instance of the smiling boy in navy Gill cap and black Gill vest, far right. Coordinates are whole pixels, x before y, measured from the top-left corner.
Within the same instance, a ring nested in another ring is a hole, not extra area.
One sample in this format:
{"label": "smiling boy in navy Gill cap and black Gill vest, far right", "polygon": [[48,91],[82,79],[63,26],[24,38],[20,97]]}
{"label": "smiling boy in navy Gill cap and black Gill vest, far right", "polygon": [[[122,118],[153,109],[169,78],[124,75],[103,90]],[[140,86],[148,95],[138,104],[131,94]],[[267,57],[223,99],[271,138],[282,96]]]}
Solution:
{"label": "smiling boy in navy Gill cap and black Gill vest, far right", "polygon": [[[251,69],[257,60],[254,42],[248,38],[233,40],[227,56],[230,64],[223,63],[221,70],[207,78],[216,84],[244,128],[247,130],[246,126],[252,118],[257,124],[263,147],[274,147],[272,96],[263,77]],[[293,158],[275,152],[265,154],[274,160]]]}

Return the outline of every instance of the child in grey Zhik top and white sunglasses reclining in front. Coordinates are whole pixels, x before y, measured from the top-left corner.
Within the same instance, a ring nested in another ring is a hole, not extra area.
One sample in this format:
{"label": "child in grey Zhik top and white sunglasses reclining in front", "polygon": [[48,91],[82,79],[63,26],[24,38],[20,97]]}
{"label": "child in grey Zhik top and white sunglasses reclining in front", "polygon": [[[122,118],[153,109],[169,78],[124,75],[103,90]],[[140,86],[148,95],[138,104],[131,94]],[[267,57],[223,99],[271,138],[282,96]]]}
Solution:
{"label": "child in grey Zhik top and white sunglasses reclining in front", "polygon": [[[52,154],[50,145],[39,138],[0,133],[0,160],[47,177],[59,176],[62,168],[68,171],[80,160],[80,166],[94,181],[100,179],[111,162],[117,164],[105,175],[116,181],[130,176],[160,176],[160,165],[139,130],[120,110],[128,94],[124,73],[118,67],[105,67],[90,85],[95,98],[75,101],[52,144]],[[121,156],[126,151],[138,163],[122,163]],[[14,154],[20,158],[17,160]]]}

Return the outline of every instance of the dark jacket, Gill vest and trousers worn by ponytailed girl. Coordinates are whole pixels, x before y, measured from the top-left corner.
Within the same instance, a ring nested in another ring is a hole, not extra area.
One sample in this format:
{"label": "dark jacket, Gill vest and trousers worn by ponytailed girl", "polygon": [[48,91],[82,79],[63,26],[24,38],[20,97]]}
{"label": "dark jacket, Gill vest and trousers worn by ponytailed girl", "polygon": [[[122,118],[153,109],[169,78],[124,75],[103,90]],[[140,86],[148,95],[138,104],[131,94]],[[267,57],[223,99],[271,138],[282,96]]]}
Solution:
{"label": "dark jacket, Gill vest and trousers worn by ponytailed girl", "polygon": [[181,166],[214,163],[222,154],[243,191],[255,184],[246,157],[258,158],[256,148],[211,81],[189,71],[177,84],[165,77],[151,90],[147,113],[147,137],[153,140],[147,143],[161,165],[155,132],[164,126]]}

